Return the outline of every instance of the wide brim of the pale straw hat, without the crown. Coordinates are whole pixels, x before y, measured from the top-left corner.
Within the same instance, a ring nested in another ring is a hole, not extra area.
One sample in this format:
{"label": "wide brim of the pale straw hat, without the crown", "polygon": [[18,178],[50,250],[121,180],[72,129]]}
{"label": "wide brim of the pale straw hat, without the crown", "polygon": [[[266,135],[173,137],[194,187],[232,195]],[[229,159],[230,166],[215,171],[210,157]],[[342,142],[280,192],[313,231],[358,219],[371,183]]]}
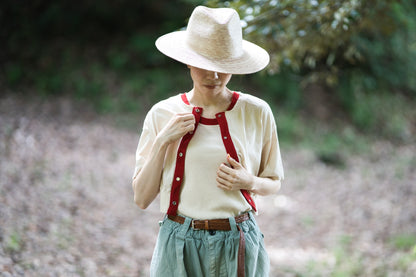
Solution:
{"label": "wide brim of the pale straw hat, without the crown", "polygon": [[212,59],[191,49],[186,43],[186,36],[186,31],[168,33],[156,40],[156,47],[166,56],[181,63],[219,73],[255,73],[264,69],[270,61],[266,50],[247,40],[243,40],[243,54],[238,58]]}

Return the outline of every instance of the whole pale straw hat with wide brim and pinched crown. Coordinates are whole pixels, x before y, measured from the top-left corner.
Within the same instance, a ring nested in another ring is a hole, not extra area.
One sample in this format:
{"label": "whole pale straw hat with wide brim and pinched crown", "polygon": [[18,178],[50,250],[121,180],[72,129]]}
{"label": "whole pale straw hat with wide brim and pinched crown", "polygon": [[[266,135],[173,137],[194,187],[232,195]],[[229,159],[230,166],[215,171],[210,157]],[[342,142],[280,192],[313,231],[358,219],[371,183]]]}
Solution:
{"label": "whole pale straw hat with wide brim and pinched crown", "polygon": [[270,60],[266,50],[243,39],[240,17],[230,8],[196,7],[186,31],[161,36],[156,47],[179,62],[220,73],[254,73]]}

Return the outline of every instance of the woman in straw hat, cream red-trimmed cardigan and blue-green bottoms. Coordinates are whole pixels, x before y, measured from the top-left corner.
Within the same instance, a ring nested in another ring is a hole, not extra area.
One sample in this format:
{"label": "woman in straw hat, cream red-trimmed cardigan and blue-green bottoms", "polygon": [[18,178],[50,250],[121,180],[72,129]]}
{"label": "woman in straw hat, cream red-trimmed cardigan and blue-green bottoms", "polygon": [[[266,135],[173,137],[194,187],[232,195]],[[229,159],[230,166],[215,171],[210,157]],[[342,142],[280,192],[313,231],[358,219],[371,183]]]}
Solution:
{"label": "woman in straw hat, cream red-trimmed cardigan and blue-green bottoms", "polygon": [[276,125],[266,102],[227,88],[232,74],[263,69],[269,55],[243,40],[233,9],[197,7],[186,31],[156,41],[186,64],[193,89],[157,103],[136,152],[134,200],[160,193],[151,276],[268,276],[254,197],[283,179]]}

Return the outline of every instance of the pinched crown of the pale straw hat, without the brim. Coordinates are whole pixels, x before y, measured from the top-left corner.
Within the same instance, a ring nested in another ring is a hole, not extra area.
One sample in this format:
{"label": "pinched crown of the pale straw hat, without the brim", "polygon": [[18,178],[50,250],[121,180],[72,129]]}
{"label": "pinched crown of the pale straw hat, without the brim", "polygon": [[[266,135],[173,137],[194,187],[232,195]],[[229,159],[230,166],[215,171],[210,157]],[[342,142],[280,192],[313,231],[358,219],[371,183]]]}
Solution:
{"label": "pinched crown of the pale straw hat, without the brim", "polygon": [[214,60],[243,55],[240,17],[233,9],[199,6],[192,13],[186,43],[196,53]]}

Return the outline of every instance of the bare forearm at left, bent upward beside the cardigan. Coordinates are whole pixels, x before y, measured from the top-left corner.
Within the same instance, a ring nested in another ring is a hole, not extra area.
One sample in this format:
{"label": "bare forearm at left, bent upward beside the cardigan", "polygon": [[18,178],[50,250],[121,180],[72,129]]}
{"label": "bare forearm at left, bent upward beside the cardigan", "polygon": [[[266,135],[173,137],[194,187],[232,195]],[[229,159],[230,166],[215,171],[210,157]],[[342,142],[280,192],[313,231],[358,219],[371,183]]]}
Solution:
{"label": "bare forearm at left, bent upward beside the cardigan", "polygon": [[133,179],[134,202],[142,209],[146,209],[159,193],[167,146],[156,138],[149,159]]}

